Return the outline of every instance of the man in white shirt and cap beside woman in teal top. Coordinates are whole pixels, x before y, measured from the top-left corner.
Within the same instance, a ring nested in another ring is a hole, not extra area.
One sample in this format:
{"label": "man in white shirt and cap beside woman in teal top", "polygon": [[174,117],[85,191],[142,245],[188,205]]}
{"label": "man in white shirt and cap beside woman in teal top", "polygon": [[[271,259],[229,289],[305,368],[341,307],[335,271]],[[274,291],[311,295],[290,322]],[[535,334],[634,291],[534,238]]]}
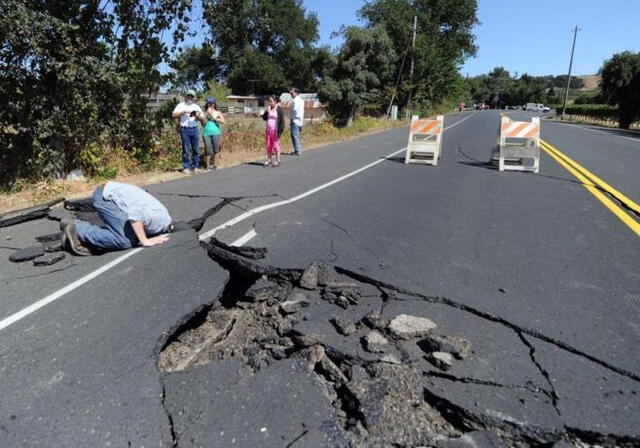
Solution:
{"label": "man in white shirt and cap beside woman in teal top", "polygon": [[[178,103],[172,118],[180,119],[180,139],[182,140],[182,172],[189,174],[197,173],[200,167],[200,132],[198,132],[198,121],[204,123],[202,109],[195,102],[196,91],[189,90],[184,97],[184,101]],[[191,152],[193,151],[193,159]]]}

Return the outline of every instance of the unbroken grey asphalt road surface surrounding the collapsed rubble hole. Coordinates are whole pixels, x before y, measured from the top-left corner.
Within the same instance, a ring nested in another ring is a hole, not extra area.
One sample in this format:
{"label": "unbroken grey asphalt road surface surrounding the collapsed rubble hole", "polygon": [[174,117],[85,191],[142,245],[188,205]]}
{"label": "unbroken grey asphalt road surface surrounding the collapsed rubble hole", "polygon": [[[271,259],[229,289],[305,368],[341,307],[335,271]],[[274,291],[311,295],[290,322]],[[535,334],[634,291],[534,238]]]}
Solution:
{"label": "unbroken grey asphalt road surface surrounding the collapsed rubble hole", "polygon": [[[393,302],[383,317],[428,317],[471,342],[475,355],[448,378],[429,377],[428,388],[485,427],[500,421],[542,428],[545,437],[606,434],[612,443],[638,443],[639,235],[544,152],[539,174],[489,166],[498,123],[494,111],[447,116],[437,167],[403,163],[404,128],[285,157],[278,169],[247,164],[149,191],[178,219],[218,205],[201,238],[215,230],[227,244],[264,247],[265,264],[302,269],[319,260],[398,293],[438,298],[430,306]],[[542,137],[640,201],[640,138],[547,121]],[[46,219],[0,229],[0,254],[56,230]],[[214,385],[204,387],[207,375],[197,369],[161,375],[157,356],[228,280],[194,232],[164,247],[67,256],[50,268],[6,258],[1,266],[0,446],[172,446],[177,432],[180,445],[190,445],[184,434],[195,423],[183,411],[189,415],[189,400]],[[34,304],[40,308],[31,311]],[[215,369],[209,374],[237,370]],[[281,394],[271,377],[260,378],[228,387]],[[296,378],[296,394],[319,400],[315,380]],[[546,389],[553,400],[523,397],[521,385]],[[214,395],[236,403],[229,394]],[[526,400],[533,404],[516,409]],[[330,408],[301,408],[299,418]],[[216,431],[257,418],[238,415],[241,422],[227,416]],[[278,415],[287,413],[274,411],[275,425]],[[211,435],[201,440],[216,446]],[[312,440],[319,439],[296,446]]]}

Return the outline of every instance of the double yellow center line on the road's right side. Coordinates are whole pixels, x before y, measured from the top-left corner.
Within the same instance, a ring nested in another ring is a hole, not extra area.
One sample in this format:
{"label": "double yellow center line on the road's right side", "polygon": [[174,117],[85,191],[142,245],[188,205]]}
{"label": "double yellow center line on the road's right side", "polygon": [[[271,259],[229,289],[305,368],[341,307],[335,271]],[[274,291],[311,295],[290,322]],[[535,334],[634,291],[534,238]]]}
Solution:
{"label": "double yellow center line on the road's right side", "polygon": [[557,148],[554,148],[551,144],[544,140],[540,140],[540,146],[549,154],[556,162],[562,165],[567,171],[573,174],[584,186],[584,188],[594,195],[600,202],[604,204],[611,212],[616,215],[627,227],[629,227],[636,235],[640,236],[640,223],[626,213],[622,208],[615,204],[611,199],[603,194],[602,191],[608,193],[611,197],[615,198],[621,204],[624,204],[626,208],[633,213],[640,215],[640,206],[632,201],[629,197],[625,196],[611,185],[600,179],[595,174],[591,173],[585,167],[578,162],[563,154]]}

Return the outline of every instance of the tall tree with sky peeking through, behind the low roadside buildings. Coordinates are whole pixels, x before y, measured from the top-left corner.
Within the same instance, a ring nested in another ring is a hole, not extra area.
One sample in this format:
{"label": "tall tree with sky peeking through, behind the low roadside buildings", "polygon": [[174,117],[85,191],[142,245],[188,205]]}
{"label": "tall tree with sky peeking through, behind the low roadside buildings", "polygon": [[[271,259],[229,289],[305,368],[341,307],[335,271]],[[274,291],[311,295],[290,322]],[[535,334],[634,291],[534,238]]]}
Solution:
{"label": "tall tree with sky peeking through, behind the low roadside buildings", "polygon": [[234,92],[315,86],[318,19],[302,0],[204,0],[204,16],[219,74]]}

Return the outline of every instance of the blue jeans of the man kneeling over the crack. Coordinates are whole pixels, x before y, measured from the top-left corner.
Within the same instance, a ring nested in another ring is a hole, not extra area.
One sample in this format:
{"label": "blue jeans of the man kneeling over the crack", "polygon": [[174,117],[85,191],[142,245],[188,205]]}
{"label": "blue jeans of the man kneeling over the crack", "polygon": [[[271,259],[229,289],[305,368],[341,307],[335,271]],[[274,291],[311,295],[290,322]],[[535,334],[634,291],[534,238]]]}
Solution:
{"label": "blue jeans of the man kneeling over the crack", "polygon": [[129,249],[137,244],[138,238],[126,214],[113,201],[102,197],[102,187],[93,193],[93,206],[107,227],[76,219],[76,232],[83,244],[106,250]]}

